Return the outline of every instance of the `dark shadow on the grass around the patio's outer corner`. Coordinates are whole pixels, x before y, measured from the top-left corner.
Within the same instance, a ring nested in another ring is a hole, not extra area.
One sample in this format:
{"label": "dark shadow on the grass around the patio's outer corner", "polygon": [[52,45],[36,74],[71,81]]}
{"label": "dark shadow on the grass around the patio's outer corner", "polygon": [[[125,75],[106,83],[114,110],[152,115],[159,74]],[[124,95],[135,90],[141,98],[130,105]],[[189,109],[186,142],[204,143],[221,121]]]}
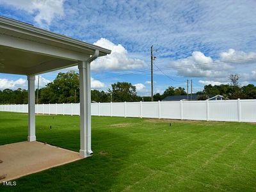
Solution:
{"label": "dark shadow on the grass around the patio's outer corner", "polygon": [[[109,138],[111,135],[111,138]],[[41,132],[38,139],[51,145],[79,150],[79,130]],[[129,143],[129,145],[127,145]],[[107,129],[93,130],[93,156],[17,179],[17,186],[0,186],[0,191],[106,191],[116,182],[125,161],[143,144]]]}

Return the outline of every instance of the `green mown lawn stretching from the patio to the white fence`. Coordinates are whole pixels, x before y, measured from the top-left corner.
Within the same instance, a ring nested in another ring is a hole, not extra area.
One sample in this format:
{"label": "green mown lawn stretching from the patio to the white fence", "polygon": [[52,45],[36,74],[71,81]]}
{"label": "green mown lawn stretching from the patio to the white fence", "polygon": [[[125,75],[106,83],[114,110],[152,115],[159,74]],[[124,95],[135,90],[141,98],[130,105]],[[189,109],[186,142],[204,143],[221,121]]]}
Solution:
{"label": "green mown lawn stretching from the patio to the white fence", "polygon": [[[0,112],[0,145],[26,140],[27,118]],[[78,152],[79,116],[36,116],[36,138]],[[93,116],[92,157],[0,191],[256,191],[255,140],[256,124]]]}

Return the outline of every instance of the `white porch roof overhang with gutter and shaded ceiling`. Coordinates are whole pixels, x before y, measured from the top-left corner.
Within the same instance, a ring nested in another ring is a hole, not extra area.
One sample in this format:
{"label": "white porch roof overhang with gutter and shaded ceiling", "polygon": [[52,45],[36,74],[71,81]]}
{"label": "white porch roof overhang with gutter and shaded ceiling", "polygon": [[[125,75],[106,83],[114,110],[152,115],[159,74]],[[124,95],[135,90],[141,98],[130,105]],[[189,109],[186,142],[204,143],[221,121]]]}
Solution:
{"label": "white porch roof overhang with gutter and shaded ceiling", "polygon": [[77,65],[96,50],[99,56],[111,53],[96,45],[0,17],[0,72],[41,74]]}

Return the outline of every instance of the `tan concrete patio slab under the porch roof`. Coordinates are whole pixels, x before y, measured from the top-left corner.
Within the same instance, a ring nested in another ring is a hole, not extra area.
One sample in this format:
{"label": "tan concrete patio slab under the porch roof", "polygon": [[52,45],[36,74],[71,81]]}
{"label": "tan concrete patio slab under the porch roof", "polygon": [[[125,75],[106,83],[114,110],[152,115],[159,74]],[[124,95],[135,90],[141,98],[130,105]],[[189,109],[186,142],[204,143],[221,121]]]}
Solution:
{"label": "tan concrete patio slab under the porch roof", "polygon": [[1,145],[0,177],[1,175],[6,175],[6,177],[1,179],[0,183],[79,159],[83,157],[79,156],[78,152],[38,141]]}

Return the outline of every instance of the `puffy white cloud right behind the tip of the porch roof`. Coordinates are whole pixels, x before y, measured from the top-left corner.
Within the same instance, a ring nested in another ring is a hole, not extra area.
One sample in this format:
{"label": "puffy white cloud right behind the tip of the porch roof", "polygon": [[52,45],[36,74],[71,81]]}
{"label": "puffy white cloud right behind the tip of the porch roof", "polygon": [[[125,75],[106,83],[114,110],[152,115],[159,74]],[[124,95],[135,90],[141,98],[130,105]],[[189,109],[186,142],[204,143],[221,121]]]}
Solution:
{"label": "puffy white cloud right behind the tip of the porch roof", "polygon": [[100,38],[94,45],[110,49],[111,54],[93,61],[92,70],[131,70],[145,66],[143,60],[130,58],[127,50],[121,44],[115,45],[106,38]]}

